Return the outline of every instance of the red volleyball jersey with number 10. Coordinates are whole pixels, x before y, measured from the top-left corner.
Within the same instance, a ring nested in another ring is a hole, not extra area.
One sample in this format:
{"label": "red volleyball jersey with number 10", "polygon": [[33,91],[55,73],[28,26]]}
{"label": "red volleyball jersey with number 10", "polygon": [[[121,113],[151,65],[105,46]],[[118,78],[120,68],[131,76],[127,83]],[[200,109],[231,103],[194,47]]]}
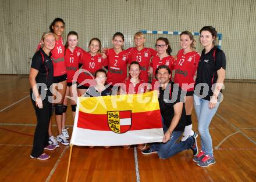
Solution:
{"label": "red volleyball jersey with number 10", "polygon": [[81,69],[86,70],[80,72],[79,77],[77,78],[78,83],[83,83],[84,86],[94,86],[94,74],[97,70],[102,69],[105,65],[105,59],[102,57],[101,54],[96,54],[95,56],[91,56],[90,53],[85,53],[81,57],[81,63],[83,66]]}

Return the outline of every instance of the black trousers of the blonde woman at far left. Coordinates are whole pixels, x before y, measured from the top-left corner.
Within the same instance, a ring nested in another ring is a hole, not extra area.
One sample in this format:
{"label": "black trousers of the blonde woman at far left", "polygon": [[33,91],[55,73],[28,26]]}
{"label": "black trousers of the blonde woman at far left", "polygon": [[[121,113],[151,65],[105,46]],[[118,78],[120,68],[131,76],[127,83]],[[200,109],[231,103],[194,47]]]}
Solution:
{"label": "black trousers of the blonde woman at far left", "polygon": [[35,127],[33,149],[31,152],[31,155],[35,158],[43,154],[44,147],[48,145],[48,128],[52,112],[52,104],[49,103],[48,97],[51,96],[51,92],[47,90],[46,97],[42,100],[42,108],[40,109],[35,106],[35,101],[32,99],[32,90],[30,89],[30,98],[35,109],[35,115],[37,115],[37,126]]}

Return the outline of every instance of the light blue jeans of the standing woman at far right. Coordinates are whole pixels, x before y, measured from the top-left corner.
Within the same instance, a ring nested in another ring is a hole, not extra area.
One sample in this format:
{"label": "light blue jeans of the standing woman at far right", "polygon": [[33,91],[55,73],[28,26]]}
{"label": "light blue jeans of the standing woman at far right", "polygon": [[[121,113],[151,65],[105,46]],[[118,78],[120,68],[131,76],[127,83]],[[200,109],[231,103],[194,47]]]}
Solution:
{"label": "light blue jeans of the standing woman at far right", "polygon": [[219,103],[217,103],[214,108],[209,109],[209,100],[201,99],[194,94],[194,108],[195,114],[197,115],[198,132],[201,137],[201,147],[202,151],[209,156],[214,156],[214,151],[212,150],[212,138],[209,133],[209,125],[218,110],[218,107]]}

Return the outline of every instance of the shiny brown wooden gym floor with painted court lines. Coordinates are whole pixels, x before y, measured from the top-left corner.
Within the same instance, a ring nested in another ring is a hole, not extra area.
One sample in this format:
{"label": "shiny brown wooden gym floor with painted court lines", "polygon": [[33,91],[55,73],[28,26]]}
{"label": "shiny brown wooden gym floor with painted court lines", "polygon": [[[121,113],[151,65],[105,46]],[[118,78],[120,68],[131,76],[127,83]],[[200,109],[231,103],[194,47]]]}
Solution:
{"label": "shiny brown wooden gym floor with painted court lines", "polygon": [[[48,152],[48,161],[30,158],[36,119],[28,77],[0,75],[0,88],[0,181],[65,181],[70,147]],[[69,181],[256,181],[256,83],[226,82],[223,94],[210,126],[215,165],[200,168],[191,150],[162,160],[136,148],[74,146]],[[193,123],[197,131],[194,112]],[[71,133],[70,107],[67,125]]]}

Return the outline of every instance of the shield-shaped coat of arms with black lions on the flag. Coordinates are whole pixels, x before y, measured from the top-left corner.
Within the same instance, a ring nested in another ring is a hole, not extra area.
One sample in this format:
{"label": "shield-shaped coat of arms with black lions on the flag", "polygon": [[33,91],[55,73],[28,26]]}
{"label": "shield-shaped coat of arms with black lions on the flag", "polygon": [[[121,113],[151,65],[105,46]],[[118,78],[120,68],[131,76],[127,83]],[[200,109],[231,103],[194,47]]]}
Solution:
{"label": "shield-shaped coat of arms with black lions on the flag", "polygon": [[131,111],[108,111],[108,126],[115,133],[125,133],[131,128]]}

